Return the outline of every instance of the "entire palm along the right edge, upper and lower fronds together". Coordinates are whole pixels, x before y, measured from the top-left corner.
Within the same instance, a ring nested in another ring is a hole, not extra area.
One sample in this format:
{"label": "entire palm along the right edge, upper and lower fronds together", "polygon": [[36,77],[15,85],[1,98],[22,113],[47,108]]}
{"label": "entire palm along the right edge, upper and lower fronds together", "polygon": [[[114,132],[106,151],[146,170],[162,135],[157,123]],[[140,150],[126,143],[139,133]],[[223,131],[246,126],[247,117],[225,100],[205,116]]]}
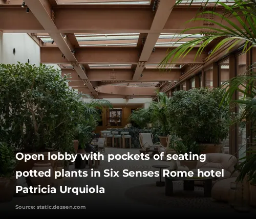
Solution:
{"label": "entire palm along the right edge, upper and lower fronds together", "polygon": [[[193,0],[191,0],[190,5],[193,4]],[[186,37],[193,37],[194,35],[202,34],[203,36],[200,38],[195,38],[190,40],[179,47],[174,48],[174,50],[170,51],[164,60],[160,63],[160,66],[163,68],[166,65],[173,63],[175,60],[184,58],[193,48],[197,48],[197,54],[195,59],[204,52],[207,45],[212,40],[217,41],[218,43],[214,46],[209,54],[208,58],[214,55],[220,47],[230,43],[227,48],[227,52],[229,52],[232,48],[242,45],[243,52],[248,52],[253,46],[256,45],[256,1],[255,0],[234,0],[232,5],[228,3],[222,3],[220,0],[215,1],[215,4],[219,4],[223,6],[223,13],[218,13],[215,10],[209,11],[207,7],[203,8],[203,11],[198,13],[198,15],[188,22],[191,21],[207,21],[214,23],[215,27],[193,27],[185,29],[181,34],[189,32],[191,30],[194,31],[194,34],[188,34],[183,38],[180,38],[176,43],[180,41],[184,41],[183,39]],[[178,0],[176,5],[182,3],[182,0]],[[209,1],[204,1],[207,5]],[[214,15],[215,17],[219,17],[221,19],[220,22],[216,20],[208,19],[207,16],[203,15]],[[227,25],[223,25],[226,23]],[[218,28],[216,28],[218,27]],[[203,30],[202,33],[195,33],[195,30]],[[176,36],[175,36],[176,37]],[[175,44],[174,44],[175,45]],[[243,107],[242,113],[239,114],[238,121],[247,121],[251,124],[251,132],[254,131],[255,126],[255,106],[256,106],[256,87],[255,87],[255,79],[256,75],[253,72],[253,67],[245,74],[237,76],[226,83],[224,86],[229,86],[226,95],[223,98],[223,104],[229,104],[230,100],[234,93],[242,92],[243,99],[235,101],[236,104]],[[249,145],[249,150],[251,152],[251,148],[254,144]],[[238,169],[240,171],[240,175],[238,177],[238,181],[242,182],[243,179],[247,176],[248,180],[253,184],[256,184],[256,155],[250,153],[248,156],[242,158],[244,161],[238,165]]]}

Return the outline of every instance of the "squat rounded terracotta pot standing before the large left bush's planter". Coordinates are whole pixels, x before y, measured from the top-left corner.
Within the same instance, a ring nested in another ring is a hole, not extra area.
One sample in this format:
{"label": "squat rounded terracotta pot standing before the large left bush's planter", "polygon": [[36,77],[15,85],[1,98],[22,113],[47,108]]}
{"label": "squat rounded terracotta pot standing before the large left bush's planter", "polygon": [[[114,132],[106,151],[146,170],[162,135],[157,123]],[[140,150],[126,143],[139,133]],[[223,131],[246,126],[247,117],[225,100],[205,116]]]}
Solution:
{"label": "squat rounded terracotta pot standing before the large left bush's planter", "polygon": [[47,187],[50,185],[52,187],[53,185],[53,168],[51,166],[51,163],[47,162],[39,162],[39,163],[34,163],[34,167],[32,168],[32,171],[42,171],[42,172],[50,172],[50,176],[44,176],[44,177],[29,177],[31,180],[31,183],[33,187],[38,187],[40,185],[41,187]]}

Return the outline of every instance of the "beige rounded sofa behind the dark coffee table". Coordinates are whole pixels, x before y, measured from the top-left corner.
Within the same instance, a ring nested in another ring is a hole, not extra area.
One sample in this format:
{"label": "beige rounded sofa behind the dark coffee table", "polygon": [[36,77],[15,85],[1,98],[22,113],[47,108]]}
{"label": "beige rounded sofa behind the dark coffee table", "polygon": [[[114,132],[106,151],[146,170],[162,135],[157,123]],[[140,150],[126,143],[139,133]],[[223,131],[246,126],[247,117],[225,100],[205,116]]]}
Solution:
{"label": "beige rounded sofa behind the dark coffee table", "polygon": [[[221,171],[224,169],[224,177],[217,178],[213,181],[213,183],[215,183],[218,180],[230,178],[236,164],[237,158],[230,154],[211,153],[206,154],[205,162],[198,161],[196,169],[192,169],[191,171],[197,174],[198,169],[202,172],[211,170]],[[200,181],[198,181],[197,184],[200,184]]]}

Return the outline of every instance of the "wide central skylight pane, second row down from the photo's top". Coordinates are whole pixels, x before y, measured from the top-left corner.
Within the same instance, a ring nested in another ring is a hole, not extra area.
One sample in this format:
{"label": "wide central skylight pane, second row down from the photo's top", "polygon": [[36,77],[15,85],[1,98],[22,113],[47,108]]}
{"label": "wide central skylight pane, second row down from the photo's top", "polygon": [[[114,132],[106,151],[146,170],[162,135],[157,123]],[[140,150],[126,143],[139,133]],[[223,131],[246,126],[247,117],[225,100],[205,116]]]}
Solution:
{"label": "wide central skylight pane, second row down from the photo's top", "polygon": [[75,34],[80,46],[137,46],[139,33]]}

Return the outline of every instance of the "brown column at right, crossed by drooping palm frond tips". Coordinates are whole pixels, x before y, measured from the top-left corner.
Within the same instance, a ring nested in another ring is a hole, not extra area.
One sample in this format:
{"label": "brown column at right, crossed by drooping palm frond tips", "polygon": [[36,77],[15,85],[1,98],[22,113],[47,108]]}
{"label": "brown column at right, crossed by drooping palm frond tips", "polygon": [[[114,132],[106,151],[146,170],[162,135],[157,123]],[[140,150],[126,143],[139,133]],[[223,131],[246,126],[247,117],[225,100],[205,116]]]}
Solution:
{"label": "brown column at right, crossed by drooping palm frond tips", "polygon": [[[229,79],[236,77],[236,56],[234,54],[229,55]],[[237,100],[238,93],[234,93],[232,100]],[[233,113],[238,112],[237,106],[233,103],[230,104],[230,110]],[[233,124],[229,128],[229,154],[238,158],[238,124]]]}

